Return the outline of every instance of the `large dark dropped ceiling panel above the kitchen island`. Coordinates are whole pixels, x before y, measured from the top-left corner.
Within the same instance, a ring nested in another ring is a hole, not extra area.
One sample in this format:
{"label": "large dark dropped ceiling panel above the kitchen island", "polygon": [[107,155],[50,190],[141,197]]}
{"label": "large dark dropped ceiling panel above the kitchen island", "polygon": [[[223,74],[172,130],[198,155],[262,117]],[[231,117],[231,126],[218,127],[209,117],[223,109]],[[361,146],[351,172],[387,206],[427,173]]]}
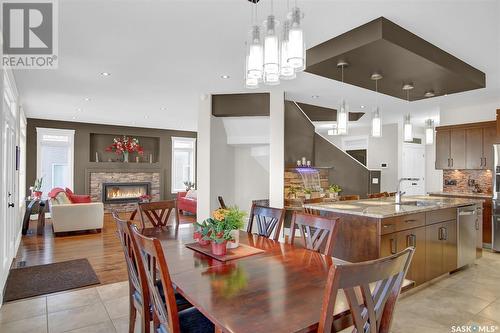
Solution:
{"label": "large dark dropped ceiling panel above the kitchen island", "polygon": [[486,86],[483,72],[384,17],[308,49],[306,71],[341,81],[340,61],[344,82],[375,90],[378,73],[380,93],[406,99],[402,87],[412,84],[411,101]]}

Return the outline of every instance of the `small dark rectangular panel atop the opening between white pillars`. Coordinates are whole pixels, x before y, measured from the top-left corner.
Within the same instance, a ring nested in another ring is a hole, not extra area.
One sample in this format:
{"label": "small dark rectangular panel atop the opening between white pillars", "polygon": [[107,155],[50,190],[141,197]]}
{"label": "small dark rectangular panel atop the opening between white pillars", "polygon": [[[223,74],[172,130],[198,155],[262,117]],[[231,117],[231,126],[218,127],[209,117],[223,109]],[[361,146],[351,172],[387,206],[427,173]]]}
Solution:
{"label": "small dark rectangular panel atop the opening between white pillars", "polygon": [[212,115],[216,117],[269,116],[269,94],[212,95]]}

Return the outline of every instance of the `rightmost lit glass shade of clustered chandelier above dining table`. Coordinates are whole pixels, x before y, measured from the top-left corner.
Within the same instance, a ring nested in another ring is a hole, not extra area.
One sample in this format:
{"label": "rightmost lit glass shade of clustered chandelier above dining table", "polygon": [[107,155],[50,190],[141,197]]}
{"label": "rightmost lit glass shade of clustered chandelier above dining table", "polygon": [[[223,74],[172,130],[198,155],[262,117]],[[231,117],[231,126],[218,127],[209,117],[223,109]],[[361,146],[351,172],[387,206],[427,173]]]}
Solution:
{"label": "rightmost lit glass shade of clustered chandelier above dining table", "polygon": [[301,18],[302,13],[300,9],[297,7],[293,8],[290,31],[288,33],[288,64],[290,64],[296,72],[303,71],[306,67],[304,32],[300,26]]}

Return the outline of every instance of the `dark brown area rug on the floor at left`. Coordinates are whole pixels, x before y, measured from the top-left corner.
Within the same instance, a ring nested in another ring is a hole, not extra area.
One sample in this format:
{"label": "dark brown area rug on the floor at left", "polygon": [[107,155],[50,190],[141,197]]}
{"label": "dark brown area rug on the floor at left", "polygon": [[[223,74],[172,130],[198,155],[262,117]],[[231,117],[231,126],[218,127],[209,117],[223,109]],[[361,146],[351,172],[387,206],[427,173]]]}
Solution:
{"label": "dark brown area rug on the floor at left", "polygon": [[99,284],[87,259],[12,269],[4,302]]}

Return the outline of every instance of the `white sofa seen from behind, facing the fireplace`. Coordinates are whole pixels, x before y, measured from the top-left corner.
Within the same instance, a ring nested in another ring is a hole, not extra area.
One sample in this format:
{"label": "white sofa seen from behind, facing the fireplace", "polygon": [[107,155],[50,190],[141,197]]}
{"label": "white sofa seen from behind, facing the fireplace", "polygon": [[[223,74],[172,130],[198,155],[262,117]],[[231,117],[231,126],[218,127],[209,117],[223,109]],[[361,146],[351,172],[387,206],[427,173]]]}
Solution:
{"label": "white sofa seen from behind, facing the fireplace", "polygon": [[102,202],[81,204],[58,204],[49,201],[54,233],[92,230],[102,230],[104,224],[104,205]]}

